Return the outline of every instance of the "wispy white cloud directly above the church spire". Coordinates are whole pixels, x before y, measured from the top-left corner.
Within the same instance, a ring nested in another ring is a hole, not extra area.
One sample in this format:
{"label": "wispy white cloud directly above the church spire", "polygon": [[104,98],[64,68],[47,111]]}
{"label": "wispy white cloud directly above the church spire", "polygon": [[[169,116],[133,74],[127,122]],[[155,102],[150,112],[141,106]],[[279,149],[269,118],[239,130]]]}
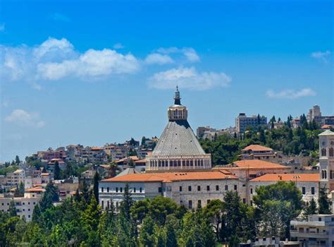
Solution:
{"label": "wispy white cloud directly above the church spire", "polygon": [[149,85],[152,88],[163,90],[175,88],[176,85],[190,90],[209,90],[216,87],[227,87],[231,80],[230,76],[225,73],[199,73],[194,67],[181,67],[154,74],[149,78]]}

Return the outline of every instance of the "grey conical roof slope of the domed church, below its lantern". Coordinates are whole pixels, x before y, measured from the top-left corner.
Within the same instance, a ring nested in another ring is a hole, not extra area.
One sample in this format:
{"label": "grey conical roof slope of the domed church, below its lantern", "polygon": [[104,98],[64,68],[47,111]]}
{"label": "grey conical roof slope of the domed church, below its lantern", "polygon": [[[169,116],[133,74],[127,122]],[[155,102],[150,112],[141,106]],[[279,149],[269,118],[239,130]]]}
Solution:
{"label": "grey conical roof slope of the domed church, below its lantern", "polygon": [[187,120],[168,121],[152,155],[204,155]]}

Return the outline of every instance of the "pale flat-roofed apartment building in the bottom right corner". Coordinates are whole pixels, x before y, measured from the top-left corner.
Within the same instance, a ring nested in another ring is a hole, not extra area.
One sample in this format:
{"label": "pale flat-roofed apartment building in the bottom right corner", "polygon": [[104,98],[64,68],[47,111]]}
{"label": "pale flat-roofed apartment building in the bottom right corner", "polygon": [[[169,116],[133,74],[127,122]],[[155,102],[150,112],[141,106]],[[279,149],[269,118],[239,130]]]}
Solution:
{"label": "pale flat-roofed apartment building in the bottom right corner", "polygon": [[290,222],[290,236],[304,247],[334,246],[334,215],[309,215],[307,220]]}

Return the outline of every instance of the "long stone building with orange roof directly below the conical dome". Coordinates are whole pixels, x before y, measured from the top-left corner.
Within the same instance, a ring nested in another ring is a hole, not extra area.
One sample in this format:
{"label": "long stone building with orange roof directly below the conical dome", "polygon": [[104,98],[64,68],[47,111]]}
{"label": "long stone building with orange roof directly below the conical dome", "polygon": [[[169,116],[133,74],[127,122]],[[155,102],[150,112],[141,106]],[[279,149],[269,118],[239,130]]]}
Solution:
{"label": "long stone building with orange roof directly below the conical dome", "polygon": [[100,181],[99,205],[107,209],[113,201],[118,210],[126,184],[134,200],[162,195],[188,209],[196,208],[199,204],[204,207],[210,200],[223,200],[227,191],[239,192],[242,188],[237,177],[228,171],[128,174]]}

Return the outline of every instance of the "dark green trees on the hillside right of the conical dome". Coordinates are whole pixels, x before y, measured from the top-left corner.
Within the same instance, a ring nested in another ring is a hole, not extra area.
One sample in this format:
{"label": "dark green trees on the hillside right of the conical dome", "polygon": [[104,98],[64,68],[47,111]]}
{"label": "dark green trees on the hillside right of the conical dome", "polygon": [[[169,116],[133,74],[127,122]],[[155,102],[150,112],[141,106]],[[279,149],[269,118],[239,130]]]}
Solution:
{"label": "dark green trees on the hillside right of the conical dome", "polygon": [[307,123],[306,117],[301,116],[301,126],[292,129],[292,117],[281,128],[247,128],[240,138],[228,134],[215,136],[214,140],[199,140],[204,151],[211,153],[213,164],[230,164],[238,159],[241,150],[248,145],[259,144],[282,151],[285,155],[311,155],[318,158],[318,134],[321,129],[316,124]]}

